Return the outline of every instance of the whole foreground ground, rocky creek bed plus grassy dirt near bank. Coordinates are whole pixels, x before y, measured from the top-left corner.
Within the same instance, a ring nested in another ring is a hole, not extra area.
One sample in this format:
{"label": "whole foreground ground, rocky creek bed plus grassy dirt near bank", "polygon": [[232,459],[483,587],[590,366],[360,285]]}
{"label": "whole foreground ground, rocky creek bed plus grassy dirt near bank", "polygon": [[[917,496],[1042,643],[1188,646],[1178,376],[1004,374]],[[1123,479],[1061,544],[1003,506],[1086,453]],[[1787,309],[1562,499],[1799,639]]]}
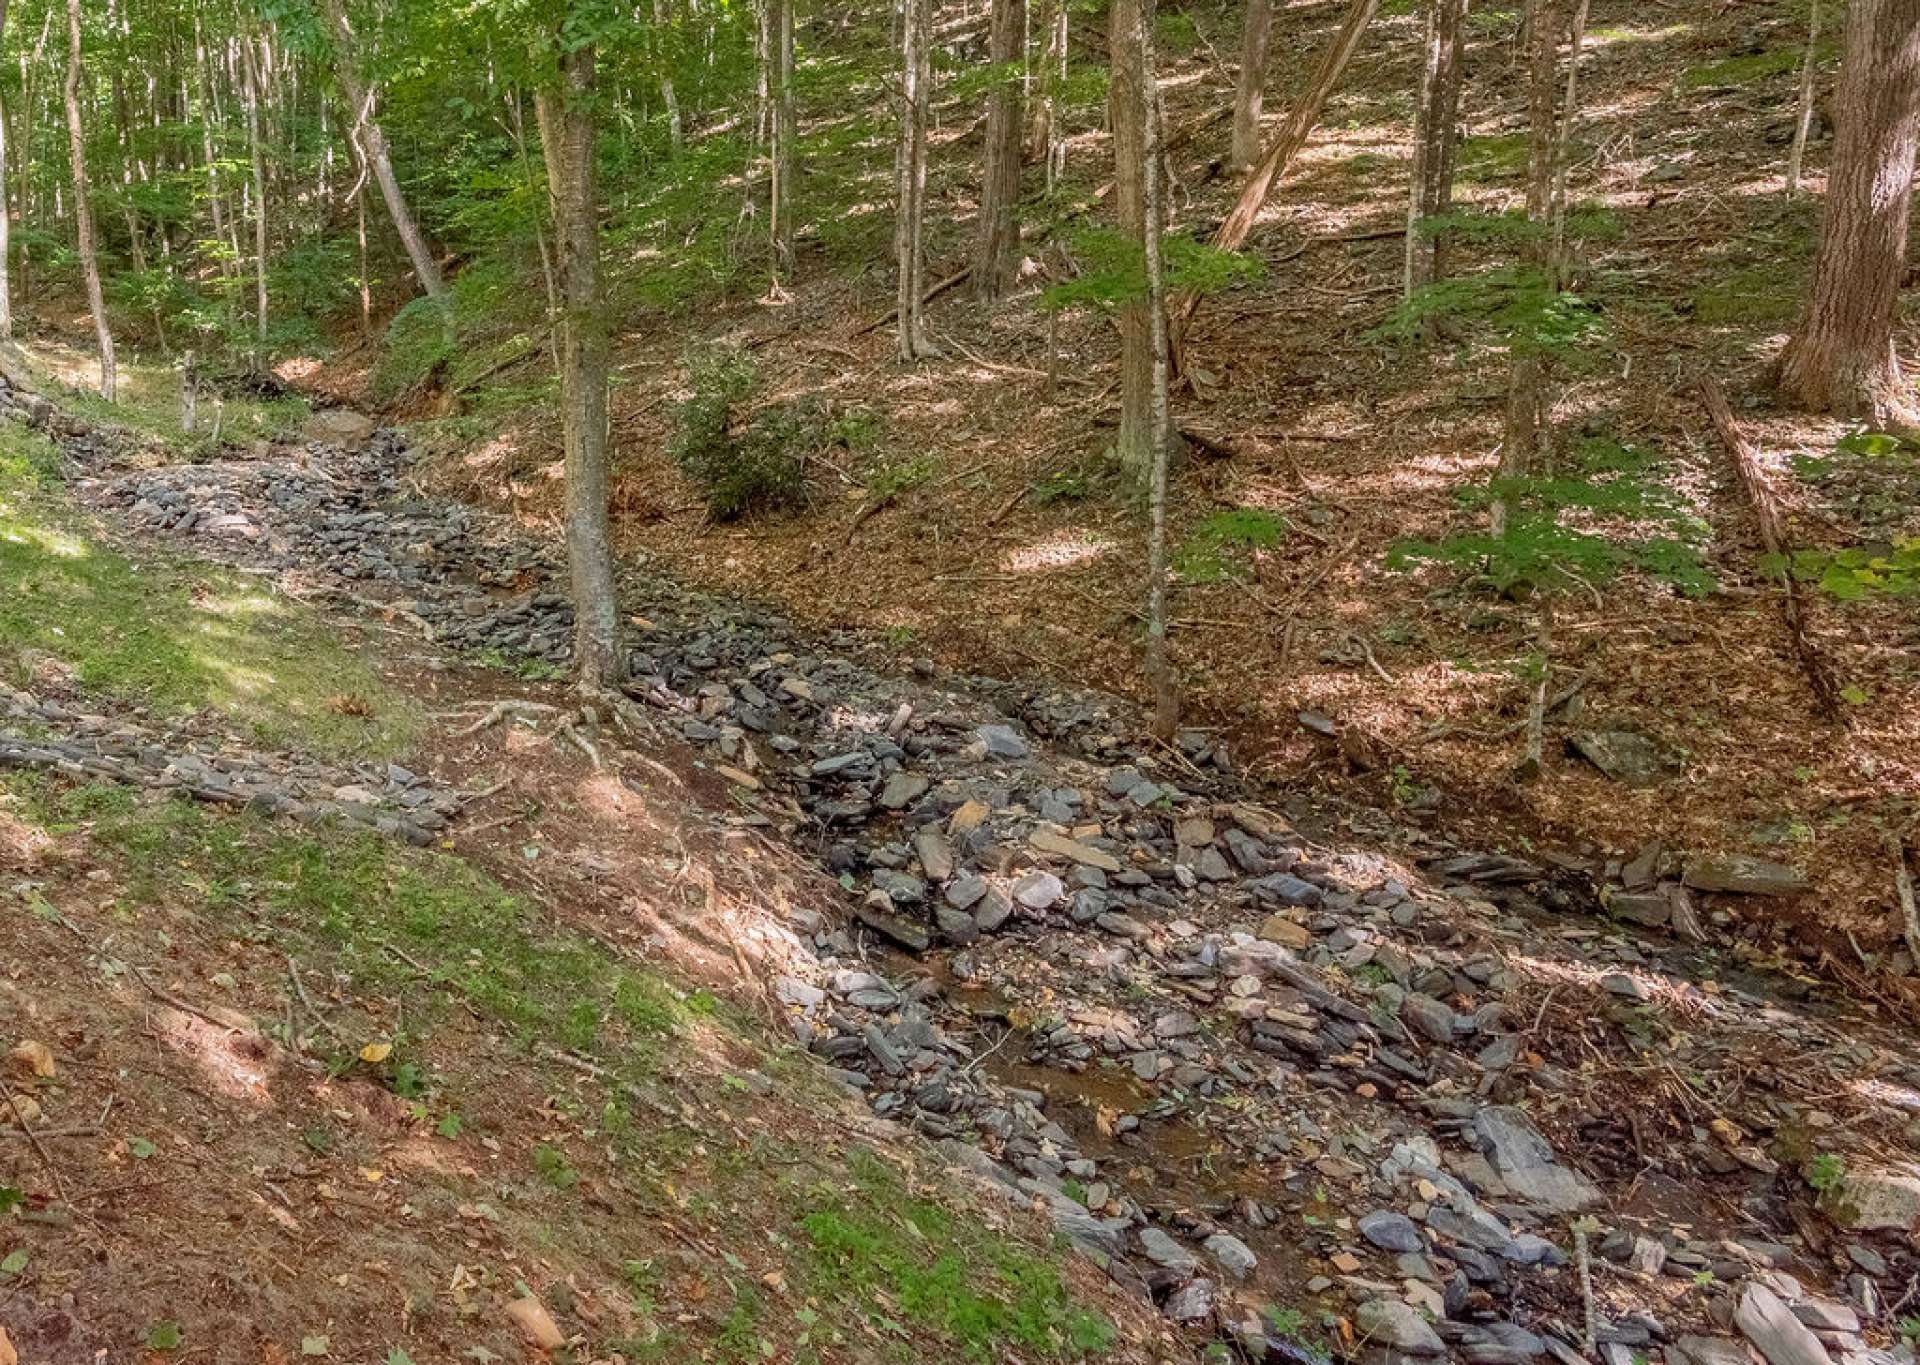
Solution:
{"label": "whole foreground ground, rocky creek bed plus grassy dirt near bank", "polygon": [[645,564],[582,706],[392,432],[0,409],[19,1359],[1912,1359],[1920,1048],[1713,864],[1647,931]]}

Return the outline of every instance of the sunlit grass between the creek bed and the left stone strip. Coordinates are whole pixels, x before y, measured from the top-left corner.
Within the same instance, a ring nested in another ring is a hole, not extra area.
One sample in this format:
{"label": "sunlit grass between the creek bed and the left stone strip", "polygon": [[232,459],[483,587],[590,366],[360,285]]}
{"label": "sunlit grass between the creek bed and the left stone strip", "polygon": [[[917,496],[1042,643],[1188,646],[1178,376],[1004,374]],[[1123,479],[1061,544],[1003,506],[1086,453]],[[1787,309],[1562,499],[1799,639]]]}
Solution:
{"label": "sunlit grass between the creek bed and the left stone strip", "polygon": [[134,564],[54,478],[54,449],[0,428],[0,674],[52,655],[84,687],[161,712],[217,710],[265,745],[394,754],[419,706],[340,645],[338,626],[205,563]]}

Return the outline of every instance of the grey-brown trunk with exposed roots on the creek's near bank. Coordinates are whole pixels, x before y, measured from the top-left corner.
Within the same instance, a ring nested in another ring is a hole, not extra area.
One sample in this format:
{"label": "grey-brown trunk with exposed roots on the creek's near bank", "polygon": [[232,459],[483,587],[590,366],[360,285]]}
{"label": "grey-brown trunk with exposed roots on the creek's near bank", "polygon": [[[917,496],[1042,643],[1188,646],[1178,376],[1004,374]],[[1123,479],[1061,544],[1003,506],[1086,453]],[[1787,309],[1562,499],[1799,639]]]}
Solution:
{"label": "grey-brown trunk with exposed roots on the creek's near bank", "polygon": [[[338,4],[338,0],[332,0]],[[593,48],[561,56],[559,88],[534,98],[547,159],[559,251],[561,388],[566,445],[566,563],[574,589],[580,685],[618,685],[620,614],[607,528],[607,313],[599,280],[599,198],[593,184]]]}

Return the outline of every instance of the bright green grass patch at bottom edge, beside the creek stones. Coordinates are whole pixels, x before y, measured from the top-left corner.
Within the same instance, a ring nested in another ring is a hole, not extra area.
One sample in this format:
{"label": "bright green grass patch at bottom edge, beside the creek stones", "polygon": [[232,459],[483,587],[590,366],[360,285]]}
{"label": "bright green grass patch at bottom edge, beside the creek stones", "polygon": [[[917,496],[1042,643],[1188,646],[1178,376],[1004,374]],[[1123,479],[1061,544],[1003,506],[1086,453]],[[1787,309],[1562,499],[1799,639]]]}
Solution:
{"label": "bright green grass patch at bottom edge, beside the creek stones", "polygon": [[870,1154],[852,1154],[847,1175],[851,1188],[816,1186],[799,1219],[810,1294],[881,1332],[933,1332],[948,1359],[1075,1361],[1114,1346],[1114,1325],[1068,1292],[1058,1252],[918,1198]]}

